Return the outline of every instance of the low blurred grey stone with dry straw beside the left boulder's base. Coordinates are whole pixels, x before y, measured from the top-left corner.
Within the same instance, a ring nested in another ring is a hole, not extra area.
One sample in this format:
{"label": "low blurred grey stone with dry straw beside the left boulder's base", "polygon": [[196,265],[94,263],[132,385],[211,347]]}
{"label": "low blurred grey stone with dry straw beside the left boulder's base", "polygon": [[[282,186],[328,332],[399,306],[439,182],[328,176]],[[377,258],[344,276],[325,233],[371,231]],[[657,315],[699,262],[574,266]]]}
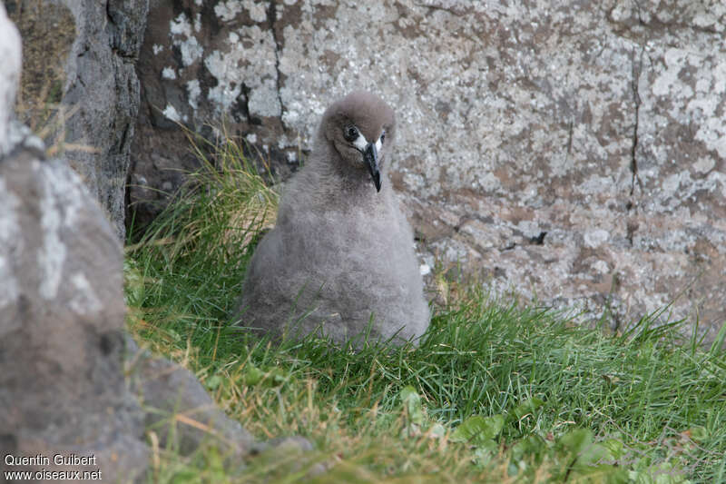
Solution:
{"label": "low blurred grey stone with dry straw beside the left boulder's base", "polygon": [[159,436],[162,448],[190,454],[211,444],[238,464],[250,450],[256,450],[247,430],[216,406],[190,370],[153,358],[131,338],[127,338],[127,351],[132,391],[146,411],[147,429]]}

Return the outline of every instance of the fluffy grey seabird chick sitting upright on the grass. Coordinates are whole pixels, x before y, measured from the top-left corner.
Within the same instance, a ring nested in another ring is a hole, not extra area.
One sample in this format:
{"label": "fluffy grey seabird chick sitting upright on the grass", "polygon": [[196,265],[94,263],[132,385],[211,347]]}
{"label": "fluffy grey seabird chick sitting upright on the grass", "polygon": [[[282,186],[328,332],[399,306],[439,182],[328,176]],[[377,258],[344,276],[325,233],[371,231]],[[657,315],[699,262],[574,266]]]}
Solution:
{"label": "fluffy grey seabird chick sitting upright on the grass", "polygon": [[[347,139],[355,132],[365,136],[368,158],[362,138],[358,147]],[[377,192],[370,143],[382,134]],[[393,111],[373,94],[348,94],[323,114],[312,153],[284,190],[277,225],[250,261],[238,324],[275,336],[320,329],[337,342],[368,328],[371,339],[398,343],[426,331],[413,233],[384,176],[395,135]]]}

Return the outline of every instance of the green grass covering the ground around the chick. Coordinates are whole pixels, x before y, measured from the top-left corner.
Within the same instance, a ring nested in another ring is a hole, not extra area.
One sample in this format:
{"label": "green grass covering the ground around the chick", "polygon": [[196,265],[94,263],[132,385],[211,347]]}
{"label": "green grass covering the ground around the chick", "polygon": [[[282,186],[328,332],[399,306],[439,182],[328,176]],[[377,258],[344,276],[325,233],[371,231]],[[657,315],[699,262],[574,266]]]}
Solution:
{"label": "green grass covering the ground around the chick", "polygon": [[300,435],[316,449],[243,470],[214,449],[162,449],[150,481],[726,481],[724,330],[711,350],[654,316],[607,335],[476,284],[434,308],[418,347],[276,346],[231,326],[277,196],[237,144],[192,146],[201,172],[127,247],[129,327],[260,440]]}

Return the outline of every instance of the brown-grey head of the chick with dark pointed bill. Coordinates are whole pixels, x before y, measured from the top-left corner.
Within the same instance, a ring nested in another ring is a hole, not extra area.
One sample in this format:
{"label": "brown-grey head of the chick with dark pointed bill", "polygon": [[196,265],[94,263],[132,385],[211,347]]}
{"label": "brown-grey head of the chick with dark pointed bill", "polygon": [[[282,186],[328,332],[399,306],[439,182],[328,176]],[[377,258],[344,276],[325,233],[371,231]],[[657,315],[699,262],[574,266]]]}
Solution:
{"label": "brown-grey head of the chick with dark pointed bill", "polygon": [[320,128],[341,162],[368,172],[380,192],[380,170],[396,133],[396,118],[388,104],[375,94],[353,92],[326,110]]}

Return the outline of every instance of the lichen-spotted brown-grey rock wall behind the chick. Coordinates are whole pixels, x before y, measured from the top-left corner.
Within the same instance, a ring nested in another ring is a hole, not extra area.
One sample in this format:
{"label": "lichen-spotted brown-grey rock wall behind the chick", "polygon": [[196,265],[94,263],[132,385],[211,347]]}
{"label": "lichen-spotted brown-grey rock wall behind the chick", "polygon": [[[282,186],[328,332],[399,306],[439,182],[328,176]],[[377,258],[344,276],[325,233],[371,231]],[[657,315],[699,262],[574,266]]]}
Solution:
{"label": "lichen-spotted brown-grey rock wall behind the chick", "polygon": [[284,178],[309,120],[366,88],[399,114],[393,181],[427,262],[613,326],[675,300],[714,329],[725,34],[718,0],[155,1],[132,201],[176,187],[180,148],[150,150],[176,143],[173,122],[226,119]]}

